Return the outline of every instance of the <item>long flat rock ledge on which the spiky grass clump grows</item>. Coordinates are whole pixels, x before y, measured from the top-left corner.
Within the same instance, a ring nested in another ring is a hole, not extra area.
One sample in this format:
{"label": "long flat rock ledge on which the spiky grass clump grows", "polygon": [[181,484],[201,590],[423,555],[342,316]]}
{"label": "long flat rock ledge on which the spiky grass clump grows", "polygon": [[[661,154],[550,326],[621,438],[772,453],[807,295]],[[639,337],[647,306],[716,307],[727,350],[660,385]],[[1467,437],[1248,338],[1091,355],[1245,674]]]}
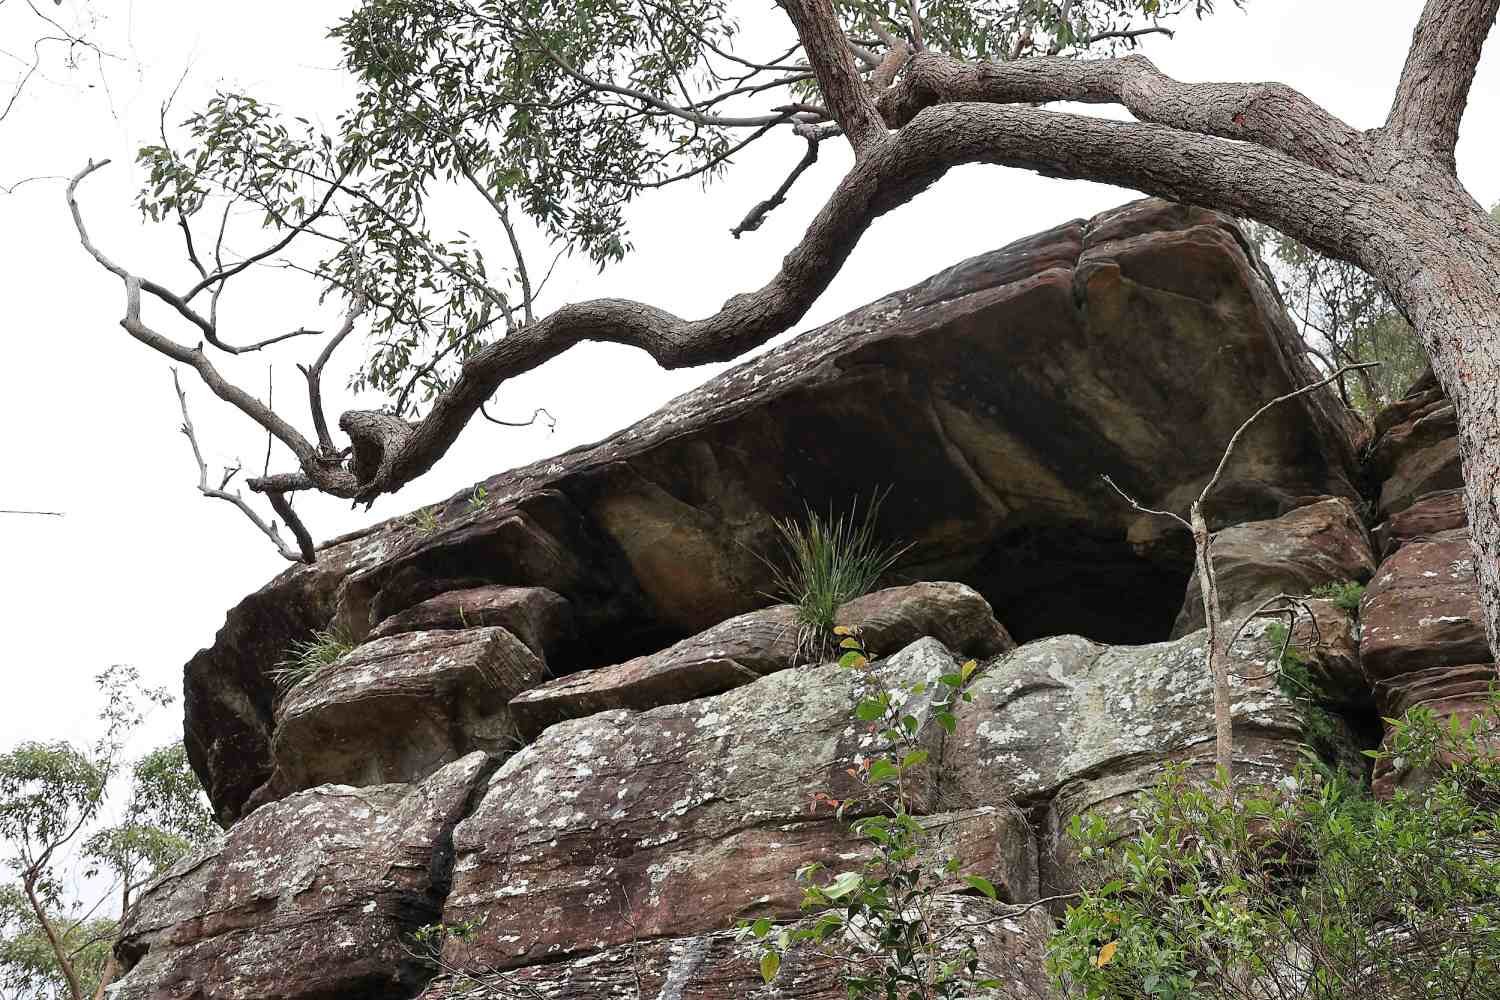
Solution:
{"label": "long flat rock ledge on which the spiky grass clump grows", "polygon": [[[849,601],[837,621],[860,628],[874,655],[932,637],[964,657],[1016,646],[988,603],[962,583],[892,586]],[[738,615],[646,657],[558,678],[522,693],[510,711],[532,739],[554,723],[616,708],[648,709],[692,702],[806,663],[814,651],[796,609],[777,604]]]}

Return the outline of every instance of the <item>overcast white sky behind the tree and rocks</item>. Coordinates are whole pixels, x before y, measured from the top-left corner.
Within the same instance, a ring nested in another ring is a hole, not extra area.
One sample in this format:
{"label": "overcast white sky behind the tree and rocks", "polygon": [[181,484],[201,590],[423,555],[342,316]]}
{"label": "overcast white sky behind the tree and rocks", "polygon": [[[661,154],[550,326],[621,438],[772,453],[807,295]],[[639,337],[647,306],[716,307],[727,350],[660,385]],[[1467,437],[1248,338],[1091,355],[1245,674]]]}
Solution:
{"label": "overcast white sky behind the tree and rocks", "polygon": [[[51,9],[51,4],[44,4]],[[76,171],[88,157],[116,163],[84,189],[96,241],[138,273],[182,280],[176,234],[142,228],[132,210],[140,181],[134,150],[156,130],[159,102],[186,70],[180,108],[222,85],[248,87],[296,114],[332,120],[346,84],[322,39],[346,3],[104,0],[104,36],[124,61],[108,90],[84,72],[36,81],[0,124],[0,183]],[[1184,79],[1280,79],[1359,127],[1378,124],[1401,69],[1420,0],[1251,0],[1203,24],[1182,24],[1149,54]],[[9,7],[9,12],[6,10]],[[14,43],[16,4],[0,7],[0,48]],[[770,0],[742,4],[742,18],[782,16]],[[1492,49],[1496,45],[1491,46]],[[9,66],[0,66],[0,79]],[[90,85],[96,84],[96,85]],[[1500,199],[1494,123],[1500,55],[1480,66],[1460,171],[1474,196]],[[687,316],[712,312],[730,294],[759,286],[836,181],[843,163],[825,154],[792,199],[759,232],[729,237],[754,201],[801,153],[790,136],[758,147],[730,177],[704,192],[680,186],[639,201],[632,214],[636,253],[596,274],[562,274],[550,304],[615,294]],[[0,507],[60,510],[62,519],[0,516],[0,745],[75,735],[92,718],[90,678],[110,663],[134,663],[156,684],[180,687],[182,664],[212,642],[225,610],[284,562],[225,504],[198,496],[166,364],[117,325],[122,289],[80,249],[62,181],[0,195]],[[950,174],[915,202],[882,219],[801,328],[909,285],[964,256],[1119,204],[1130,192],[1044,180],[999,168]],[[328,322],[306,286],[270,280],[255,295],[225,297],[226,336],[249,339]],[[165,324],[165,321],[164,321]],[[184,339],[189,334],[172,328]],[[278,396],[296,400],[291,367],[310,349],[273,352],[284,369]],[[352,354],[352,352],[348,352]],[[264,360],[225,364],[248,385]],[[585,345],[500,397],[504,414],[548,406],[560,424],[504,430],[474,424],[420,483],[384,498],[369,514],[306,496],[298,510],[320,538],[400,514],[513,465],[596,441],[660,406],[718,369],[663,373],[642,354]],[[330,373],[330,388],[342,373]],[[210,462],[240,456],[258,468],[264,436],[184,379]],[[339,399],[330,411],[339,412]],[[284,468],[285,454],[279,456]],[[180,712],[152,721],[153,742],[174,738]]]}

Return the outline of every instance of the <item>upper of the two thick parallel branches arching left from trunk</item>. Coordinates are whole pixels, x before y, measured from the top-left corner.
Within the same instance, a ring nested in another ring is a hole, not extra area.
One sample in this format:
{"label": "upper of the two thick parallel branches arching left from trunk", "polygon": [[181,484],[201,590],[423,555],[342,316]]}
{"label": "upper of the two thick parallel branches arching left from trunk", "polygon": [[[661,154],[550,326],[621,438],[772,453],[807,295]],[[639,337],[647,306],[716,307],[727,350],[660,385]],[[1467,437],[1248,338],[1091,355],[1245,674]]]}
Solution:
{"label": "upper of the two thick parallel branches arching left from trunk", "polygon": [[1185,84],[1144,55],[968,63],[918,52],[879,106],[900,127],[924,108],[960,100],[1118,103],[1140,121],[1256,142],[1341,177],[1371,180],[1374,172],[1365,135],[1292,87]]}

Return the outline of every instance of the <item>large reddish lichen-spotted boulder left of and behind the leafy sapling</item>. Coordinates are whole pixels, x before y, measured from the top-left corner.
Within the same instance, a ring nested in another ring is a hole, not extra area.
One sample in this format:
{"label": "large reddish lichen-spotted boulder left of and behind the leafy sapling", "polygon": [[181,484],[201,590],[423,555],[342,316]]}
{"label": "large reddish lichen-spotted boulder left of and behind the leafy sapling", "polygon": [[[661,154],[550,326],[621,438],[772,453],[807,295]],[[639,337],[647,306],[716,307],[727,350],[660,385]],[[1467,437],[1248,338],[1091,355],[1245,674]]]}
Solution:
{"label": "large reddish lichen-spotted boulder left of and behind the leafy sapling", "polygon": [[[843,867],[868,850],[826,804],[855,796],[850,771],[879,745],[854,721],[861,693],[940,690],[956,666],[924,639],[873,670],[782,670],[716,697],[552,726],[495,772],[458,828],[442,919],[476,927],[448,960],[513,969],[738,918],[795,919],[800,867]],[[944,730],[928,718],[930,693],[906,697],[930,762],[914,763],[903,792],[934,814]],[[1006,802],[928,822],[1006,900],[1035,897],[1030,829]]]}

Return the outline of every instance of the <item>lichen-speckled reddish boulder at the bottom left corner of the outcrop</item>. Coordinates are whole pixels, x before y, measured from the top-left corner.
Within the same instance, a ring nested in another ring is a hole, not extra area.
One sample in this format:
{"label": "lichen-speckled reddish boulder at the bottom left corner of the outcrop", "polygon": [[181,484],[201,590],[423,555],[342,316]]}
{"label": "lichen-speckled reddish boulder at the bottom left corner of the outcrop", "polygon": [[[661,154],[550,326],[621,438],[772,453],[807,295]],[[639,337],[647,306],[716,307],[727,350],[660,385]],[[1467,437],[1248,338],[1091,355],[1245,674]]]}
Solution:
{"label": "lichen-speckled reddish boulder at the bottom left corner of the outcrop", "polygon": [[428,972],[476,753],[416,786],[322,786],[256,810],[141,897],[114,1000],[405,1000]]}

